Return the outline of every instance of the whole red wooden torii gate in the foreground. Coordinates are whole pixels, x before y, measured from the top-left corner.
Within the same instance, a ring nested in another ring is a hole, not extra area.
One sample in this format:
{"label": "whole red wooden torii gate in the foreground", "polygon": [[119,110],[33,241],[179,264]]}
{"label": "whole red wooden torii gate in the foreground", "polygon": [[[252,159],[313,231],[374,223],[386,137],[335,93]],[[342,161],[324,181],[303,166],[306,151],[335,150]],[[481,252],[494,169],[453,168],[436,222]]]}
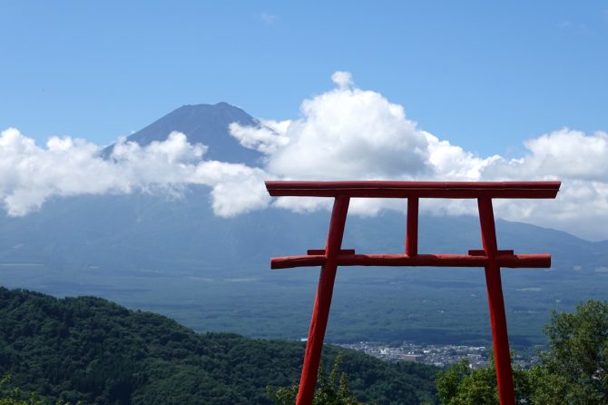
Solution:
{"label": "whole red wooden torii gate in the foreground", "polygon": [[[328,324],[331,295],[336,271],[340,265],[485,267],[498,395],[501,405],[515,405],[500,268],[548,268],[551,267],[551,255],[499,251],[496,244],[492,199],[555,198],[560,184],[560,182],[266,182],[266,188],[273,197],[333,197],[335,199],[325,249],[309,250],[304,256],[276,257],[270,260],[272,269],[321,266],[296,404],[312,403]],[[341,249],[348,203],[351,198],[407,198],[405,254],[356,254],[354,250]],[[471,250],[468,254],[418,254],[420,198],[475,198],[479,209],[484,249]]]}

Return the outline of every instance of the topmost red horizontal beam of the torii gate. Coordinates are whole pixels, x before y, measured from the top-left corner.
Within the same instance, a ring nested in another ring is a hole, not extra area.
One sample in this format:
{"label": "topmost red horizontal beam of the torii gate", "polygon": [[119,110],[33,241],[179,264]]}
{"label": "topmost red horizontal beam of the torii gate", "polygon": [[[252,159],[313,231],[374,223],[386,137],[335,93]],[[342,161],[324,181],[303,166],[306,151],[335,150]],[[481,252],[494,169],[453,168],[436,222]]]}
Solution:
{"label": "topmost red horizontal beam of the torii gate", "polygon": [[560,182],[279,182],[268,181],[273,197],[357,198],[555,198]]}

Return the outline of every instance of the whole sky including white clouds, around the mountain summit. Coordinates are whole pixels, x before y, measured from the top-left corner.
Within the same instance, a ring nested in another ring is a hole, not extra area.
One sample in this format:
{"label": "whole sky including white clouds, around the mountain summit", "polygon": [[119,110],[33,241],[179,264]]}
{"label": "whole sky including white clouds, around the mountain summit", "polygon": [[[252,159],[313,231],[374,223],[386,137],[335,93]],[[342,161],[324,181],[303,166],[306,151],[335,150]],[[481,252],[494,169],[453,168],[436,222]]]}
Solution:
{"label": "whole sky including white clouds, around the mountain summit", "polygon": [[[560,180],[556,201],[496,215],[608,239],[606,2],[1,2],[8,215],[190,184],[211,188],[220,216],[325,207],[270,200],[267,179]],[[211,161],[180,133],[99,154],[183,104],[221,101],[260,119],[230,126],[259,164]]]}

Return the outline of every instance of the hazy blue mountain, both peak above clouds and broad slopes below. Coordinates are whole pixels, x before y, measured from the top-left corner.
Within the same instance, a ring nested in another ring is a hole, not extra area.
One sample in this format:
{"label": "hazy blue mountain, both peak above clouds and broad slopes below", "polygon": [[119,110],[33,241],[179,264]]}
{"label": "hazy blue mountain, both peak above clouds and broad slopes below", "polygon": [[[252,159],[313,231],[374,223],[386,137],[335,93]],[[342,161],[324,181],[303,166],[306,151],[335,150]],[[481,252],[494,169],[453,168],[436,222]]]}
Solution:
{"label": "hazy blue mountain, both peak above clouds and broad slopes below", "polygon": [[[209,146],[209,157],[255,164],[257,153],[227,133],[232,121],[255,123],[221,103],[183,106],[130,139],[150,143],[173,130]],[[271,256],[322,248],[329,212],[267,209],[234,218],[213,215],[210,190],[183,198],[131,195],[57,198],[24,218],[0,216],[0,284],[55,295],[98,295],[160,311],[198,331],[257,337],[306,336],[319,269],[271,272]],[[348,217],[345,248],[404,251],[406,219],[397,212]],[[497,221],[498,246],[548,252],[551,271],[505,270],[511,339],[544,340],[551,309],[606,298],[608,241]],[[420,218],[419,252],[481,248],[476,217]],[[340,269],[329,340],[487,341],[480,269]]]}

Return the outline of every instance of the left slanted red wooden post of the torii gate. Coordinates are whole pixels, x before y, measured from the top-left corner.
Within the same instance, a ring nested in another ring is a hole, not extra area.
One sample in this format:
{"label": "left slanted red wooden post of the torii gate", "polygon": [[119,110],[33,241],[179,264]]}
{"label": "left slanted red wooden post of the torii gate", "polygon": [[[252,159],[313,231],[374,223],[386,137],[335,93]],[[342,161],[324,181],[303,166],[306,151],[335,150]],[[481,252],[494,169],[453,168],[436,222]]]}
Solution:
{"label": "left slanted red wooden post of the torii gate", "polygon": [[323,350],[323,340],[325,330],[328,326],[329,307],[331,296],[334,291],[334,281],[336,280],[336,270],[338,269],[338,254],[344,236],[344,225],[347,221],[348,198],[338,197],[334,202],[329,222],[328,242],[326,245],[325,257],[327,261],[321,267],[315,306],[312,310],[310,320],[309,340],[306,343],[304,353],[304,365],[299,379],[298,399],[296,405],[310,405],[315,394],[317,385],[317,371],[321,351]]}

